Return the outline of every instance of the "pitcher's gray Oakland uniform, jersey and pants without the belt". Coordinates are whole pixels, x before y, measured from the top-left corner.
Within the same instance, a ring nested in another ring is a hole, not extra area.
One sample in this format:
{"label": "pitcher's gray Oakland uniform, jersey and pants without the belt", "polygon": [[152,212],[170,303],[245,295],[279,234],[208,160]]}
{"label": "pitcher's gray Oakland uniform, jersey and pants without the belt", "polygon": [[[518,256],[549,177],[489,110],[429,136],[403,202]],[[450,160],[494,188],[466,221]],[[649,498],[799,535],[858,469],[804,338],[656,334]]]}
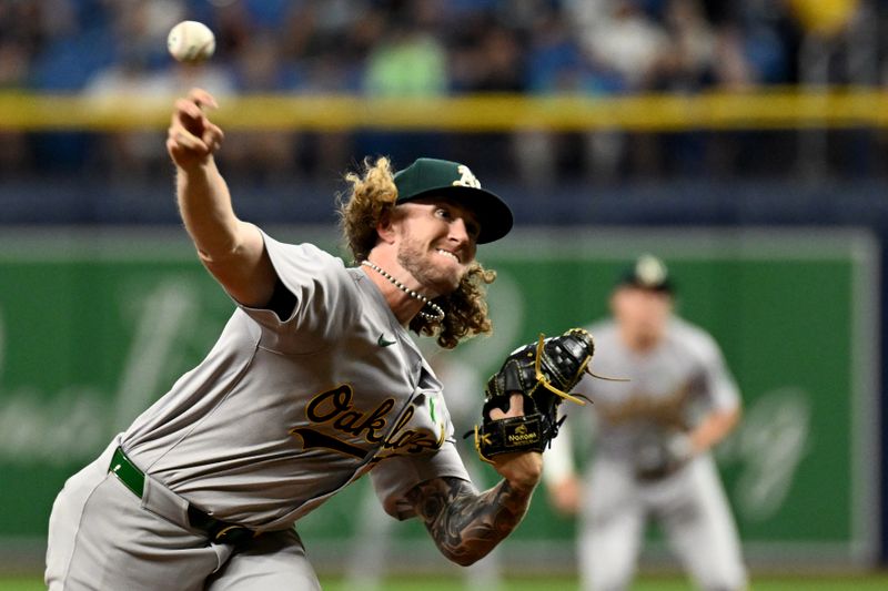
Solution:
{"label": "pitcher's gray Oakland uniform, jersey and pants without the belt", "polygon": [[[208,357],[69,479],[50,589],[317,589],[300,517],[370,471],[400,519],[415,485],[468,480],[441,383],[379,288],[312,245],[265,245],[292,314],[240,306]],[[118,446],[145,472],[141,498],[109,472]],[[195,508],[261,534],[211,543]]]}

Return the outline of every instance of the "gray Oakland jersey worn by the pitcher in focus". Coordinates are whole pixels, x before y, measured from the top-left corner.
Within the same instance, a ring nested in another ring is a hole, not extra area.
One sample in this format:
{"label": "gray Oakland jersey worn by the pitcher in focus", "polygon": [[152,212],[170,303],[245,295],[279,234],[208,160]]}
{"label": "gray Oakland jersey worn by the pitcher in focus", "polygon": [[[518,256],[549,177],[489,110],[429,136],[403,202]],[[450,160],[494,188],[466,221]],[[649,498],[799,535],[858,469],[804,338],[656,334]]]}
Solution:
{"label": "gray Oakland jersey worn by the pitcher in focus", "polygon": [[296,305],[240,306],[206,358],[125,431],[133,462],[221,520],[292,524],[372,470],[387,512],[423,480],[468,479],[442,386],[379,288],[312,245],[265,236]]}

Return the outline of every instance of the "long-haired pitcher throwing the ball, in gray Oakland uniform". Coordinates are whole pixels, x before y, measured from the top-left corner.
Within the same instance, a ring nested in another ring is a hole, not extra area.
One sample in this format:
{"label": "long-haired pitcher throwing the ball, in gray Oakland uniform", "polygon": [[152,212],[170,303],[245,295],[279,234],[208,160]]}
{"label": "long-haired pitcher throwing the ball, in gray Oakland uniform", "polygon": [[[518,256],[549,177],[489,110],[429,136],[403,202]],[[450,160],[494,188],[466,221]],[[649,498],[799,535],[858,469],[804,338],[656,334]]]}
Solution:
{"label": "long-haired pitcher throwing the ball, in gray Oakland uniform", "polygon": [[421,518],[445,557],[475,562],[527,510],[556,432],[546,393],[576,384],[591,339],[551,337],[507,360],[477,429],[502,480],[478,491],[411,332],[452,348],[491,330],[494,273],[475,255],[509,232],[508,206],[463,164],[418,159],[393,173],[367,161],[339,212],[347,266],[235,215],[215,104],[199,89],[178,100],[167,149],[185,230],[234,312],[206,357],[65,482],[47,584],[320,589],[294,526],[366,473],[387,513]]}

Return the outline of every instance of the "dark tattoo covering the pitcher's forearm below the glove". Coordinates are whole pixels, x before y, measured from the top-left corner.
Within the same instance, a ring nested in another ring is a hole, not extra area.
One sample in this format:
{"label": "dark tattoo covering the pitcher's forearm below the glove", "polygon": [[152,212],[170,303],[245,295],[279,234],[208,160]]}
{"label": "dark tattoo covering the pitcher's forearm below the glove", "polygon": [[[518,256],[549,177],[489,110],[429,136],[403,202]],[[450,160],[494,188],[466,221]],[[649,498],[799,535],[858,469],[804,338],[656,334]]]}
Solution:
{"label": "dark tattoo covering the pitcher's forearm below the glove", "polygon": [[437,478],[412,489],[407,500],[441,552],[467,565],[484,558],[518,526],[531,492],[519,492],[503,480],[478,493],[465,480]]}

